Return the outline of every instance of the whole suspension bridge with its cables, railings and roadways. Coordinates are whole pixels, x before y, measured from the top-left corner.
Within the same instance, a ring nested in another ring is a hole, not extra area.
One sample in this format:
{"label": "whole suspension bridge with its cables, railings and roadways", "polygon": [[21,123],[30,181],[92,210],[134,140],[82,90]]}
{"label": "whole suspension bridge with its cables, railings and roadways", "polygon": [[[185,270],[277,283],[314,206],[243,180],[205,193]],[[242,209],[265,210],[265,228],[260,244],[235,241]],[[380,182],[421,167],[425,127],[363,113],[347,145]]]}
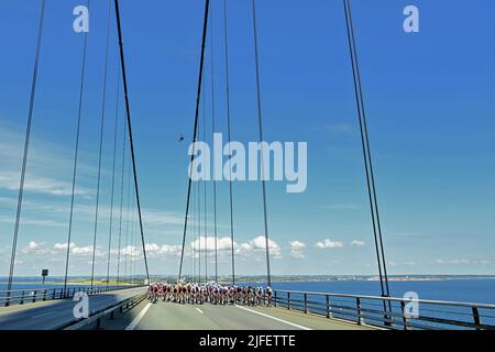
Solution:
{"label": "whole suspension bridge with its cables, railings and roadways", "polygon": [[[255,97],[256,97],[256,129],[258,141],[264,141],[263,134],[263,106],[262,89],[260,85],[260,52],[257,44],[256,1],[251,1],[251,21],[253,28],[253,55],[255,62]],[[213,133],[219,129],[219,118],[216,111],[215,90],[217,76],[213,66],[213,33],[212,21],[218,21],[218,26],[223,28],[223,76],[226,77],[224,94],[227,97],[227,135],[232,141],[231,109],[230,109],[230,73],[229,73],[229,9],[227,0],[218,0],[223,8],[222,18],[212,18],[210,12],[211,1],[205,1],[202,35],[200,43],[199,69],[197,80],[197,98],[195,103],[195,117],[193,139],[190,142],[211,140]],[[253,330],[314,330],[314,329],[438,329],[438,328],[466,328],[466,329],[491,329],[495,326],[493,316],[495,306],[477,305],[470,302],[448,302],[417,300],[425,308],[420,316],[408,314],[410,301],[404,298],[391,296],[388,273],[385,261],[385,250],[382,237],[382,224],[378,209],[378,197],[375,188],[375,175],[373,158],[370,148],[366,111],[361,85],[361,73],[358,56],[358,44],[355,38],[354,23],[352,19],[351,1],[343,0],[343,16],[345,19],[345,33],[348,38],[349,58],[352,67],[352,79],[355,95],[356,117],[360,127],[361,148],[363,156],[364,173],[366,179],[367,200],[370,205],[371,223],[373,229],[374,254],[376,255],[377,274],[380,280],[380,296],[343,295],[332,293],[301,293],[274,290],[271,307],[256,306],[246,307],[238,305],[182,305],[173,302],[150,302],[146,299],[146,286],[153,282],[148,270],[146,254],[146,223],[143,221],[142,204],[140,199],[140,178],[133,139],[132,119],[132,91],[128,86],[128,72],[125,66],[124,50],[124,23],[120,15],[119,0],[108,1],[105,73],[102,77],[101,112],[98,133],[99,158],[96,189],[96,205],[94,213],[94,231],[91,250],[91,270],[88,273],[88,282],[84,286],[77,286],[70,279],[70,260],[74,254],[73,223],[74,212],[77,206],[77,176],[80,163],[80,132],[84,124],[84,96],[87,79],[87,52],[90,34],[84,34],[81,43],[81,62],[79,72],[78,110],[75,116],[75,145],[72,168],[72,191],[69,204],[68,230],[65,244],[65,266],[62,284],[56,288],[41,287],[36,289],[16,289],[14,287],[18,241],[20,227],[22,226],[22,210],[24,198],[24,185],[26,168],[30,162],[30,142],[32,122],[35,118],[36,84],[38,79],[40,57],[44,50],[44,26],[46,8],[56,6],[45,0],[38,1],[40,18],[37,26],[37,40],[35,46],[35,59],[29,99],[29,112],[24,136],[24,150],[22,167],[20,172],[19,197],[16,201],[16,213],[12,248],[9,266],[7,290],[0,292],[0,329],[113,329],[113,330],[167,330],[167,329],[253,329]],[[87,3],[88,9],[90,3]],[[113,34],[117,34],[113,36]],[[109,73],[113,68],[109,65],[109,53],[111,46],[118,47],[119,65],[116,97],[117,101],[109,101],[108,91],[113,89],[114,82],[109,80]],[[208,45],[210,51],[208,52]],[[206,58],[210,55],[210,66],[207,67]],[[209,69],[210,87],[205,85],[204,75]],[[135,75],[135,73],[133,73]],[[206,91],[210,89],[211,119],[207,120]],[[123,101],[123,112],[121,102]],[[109,117],[107,107],[114,105],[117,113]],[[122,118],[123,116],[123,118]],[[105,135],[105,127],[112,124],[112,135]],[[207,133],[210,130],[211,133]],[[107,241],[106,272],[98,272],[96,260],[97,241],[101,240],[102,216],[101,216],[101,173],[103,140],[110,139],[113,143],[111,153],[111,184],[110,184],[110,222],[109,233],[105,234]],[[184,139],[184,138],[182,138]],[[195,144],[193,144],[195,145]],[[230,152],[230,151],[229,151]],[[264,229],[264,254],[266,266],[266,279],[264,285],[272,286],[271,273],[271,245],[270,245],[270,202],[265,185],[263,155],[261,208]],[[195,151],[191,154],[191,163]],[[193,170],[190,170],[193,173]],[[208,187],[211,186],[210,193]],[[218,212],[217,205],[222,201],[218,197],[217,182],[194,182],[191,175],[187,180],[186,207],[184,228],[182,231],[180,261],[177,272],[177,280],[190,283],[219,282],[218,260]],[[208,196],[212,199],[208,199]],[[233,183],[229,182],[229,193],[226,204],[229,208],[229,234],[230,234],[230,261],[229,279],[226,284],[238,283],[235,272],[235,227],[234,227],[234,196]],[[209,206],[212,202],[212,207]],[[208,243],[207,223],[212,217],[213,241]],[[117,233],[113,231],[117,223]],[[196,246],[187,243],[197,243]],[[117,250],[112,250],[114,246]],[[136,248],[140,248],[140,251]],[[133,249],[129,252],[129,249]],[[116,257],[117,256],[117,257]],[[211,257],[212,256],[212,257]],[[208,267],[208,263],[215,266]],[[156,273],[158,274],[158,273]],[[224,277],[222,277],[226,280]],[[76,317],[74,314],[77,294],[84,293],[89,297],[89,311],[87,317]]]}

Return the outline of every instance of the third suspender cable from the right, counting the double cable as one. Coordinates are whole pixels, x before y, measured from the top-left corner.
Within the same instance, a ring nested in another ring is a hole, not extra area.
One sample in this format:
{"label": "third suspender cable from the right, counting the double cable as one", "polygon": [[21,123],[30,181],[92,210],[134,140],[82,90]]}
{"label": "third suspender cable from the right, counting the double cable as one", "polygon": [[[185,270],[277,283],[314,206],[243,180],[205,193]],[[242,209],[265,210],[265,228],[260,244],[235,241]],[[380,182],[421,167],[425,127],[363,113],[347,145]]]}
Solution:
{"label": "third suspender cable from the right, counting the double cable as one", "polygon": [[[223,32],[226,51],[226,98],[227,98],[227,134],[229,139],[229,155],[231,154],[230,142],[232,141],[230,125],[230,77],[229,77],[229,31],[227,16],[227,0],[223,0]],[[232,169],[229,168],[229,207],[230,207],[230,246],[231,246],[231,266],[232,285],[235,285],[235,257],[234,257],[234,228],[233,228],[233,195],[232,195]]]}

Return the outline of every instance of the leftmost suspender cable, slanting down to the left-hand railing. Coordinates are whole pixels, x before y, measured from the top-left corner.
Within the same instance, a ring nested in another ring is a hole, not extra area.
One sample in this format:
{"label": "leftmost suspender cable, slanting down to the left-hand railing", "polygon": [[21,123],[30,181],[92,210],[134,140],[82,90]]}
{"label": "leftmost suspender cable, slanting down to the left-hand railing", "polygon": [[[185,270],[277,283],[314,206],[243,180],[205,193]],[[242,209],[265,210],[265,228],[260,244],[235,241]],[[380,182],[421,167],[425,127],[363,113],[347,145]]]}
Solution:
{"label": "leftmost suspender cable, slanting down to the left-hand railing", "polygon": [[12,254],[10,257],[10,271],[9,271],[9,282],[7,285],[7,290],[9,290],[8,295],[10,296],[10,290],[12,289],[12,279],[13,279],[13,271],[15,266],[15,252],[18,248],[18,237],[19,237],[19,223],[21,220],[21,211],[22,211],[22,197],[24,195],[24,179],[25,179],[25,169],[28,164],[28,153],[30,148],[30,140],[31,140],[31,124],[33,121],[33,110],[34,110],[34,98],[36,96],[36,82],[37,82],[37,69],[40,64],[40,51],[43,37],[43,24],[45,19],[45,0],[42,0],[41,3],[41,12],[40,12],[40,24],[37,29],[37,42],[36,42],[36,54],[34,58],[34,70],[33,78],[31,82],[31,97],[30,97],[30,108],[28,112],[28,127],[25,130],[25,139],[24,139],[24,155],[22,158],[22,170],[21,170],[21,182],[19,186],[19,198],[18,198],[18,210],[15,215],[15,227],[14,234],[12,240]]}

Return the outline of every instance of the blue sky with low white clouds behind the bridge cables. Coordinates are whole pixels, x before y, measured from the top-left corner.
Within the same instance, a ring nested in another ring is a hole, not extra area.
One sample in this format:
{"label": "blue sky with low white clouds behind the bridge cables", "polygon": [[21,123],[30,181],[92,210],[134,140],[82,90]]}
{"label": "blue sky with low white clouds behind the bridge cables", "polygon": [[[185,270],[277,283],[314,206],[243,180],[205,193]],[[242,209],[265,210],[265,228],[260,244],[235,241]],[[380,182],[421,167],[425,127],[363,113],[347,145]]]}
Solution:
{"label": "blue sky with low white clouds behind the bridge cables", "polygon": [[[92,3],[73,275],[89,273],[92,252],[108,1]],[[250,3],[229,2],[232,134],[241,142],[257,139]],[[72,29],[77,4],[48,1],[46,9],[19,275],[37,275],[45,266],[54,275],[63,274],[61,244],[67,237],[82,48],[82,35]],[[475,1],[476,6],[460,0],[352,4],[389,272],[494,274],[495,50],[488,44],[495,33],[495,4],[487,0]],[[403,31],[407,4],[420,10],[417,34]],[[190,141],[193,134],[202,11],[202,1],[121,1],[153,274],[177,270],[188,164],[188,144],[177,140],[183,133]],[[226,132],[222,1],[212,1],[212,13],[216,118],[219,132]],[[38,1],[0,4],[0,276],[8,273],[37,15]],[[268,183],[273,273],[375,274],[342,2],[258,1],[257,15],[265,139],[308,142],[307,190],[286,194],[284,183]],[[119,69],[116,35],[112,21],[97,251],[101,274]],[[211,119],[210,64],[208,52],[207,119]],[[118,206],[122,100],[120,111]],[[211,193],[211,184],[208,187]],[[219,235],[226,238],[228,184],[218,188]],[[261,186],[235,183],[234,194],[238,272],[263,274],[263,253],[256,250],[256,238],[263,234]],[[211,210],[211,201],[208,207]],[[118,232],[118,223],[113,231]],[[130,231],[129,245],[135,244],[135,233]],[[326,240],[327,248],[317,245]],[[220,273],[229,273],[228,255],[220,255]]]}

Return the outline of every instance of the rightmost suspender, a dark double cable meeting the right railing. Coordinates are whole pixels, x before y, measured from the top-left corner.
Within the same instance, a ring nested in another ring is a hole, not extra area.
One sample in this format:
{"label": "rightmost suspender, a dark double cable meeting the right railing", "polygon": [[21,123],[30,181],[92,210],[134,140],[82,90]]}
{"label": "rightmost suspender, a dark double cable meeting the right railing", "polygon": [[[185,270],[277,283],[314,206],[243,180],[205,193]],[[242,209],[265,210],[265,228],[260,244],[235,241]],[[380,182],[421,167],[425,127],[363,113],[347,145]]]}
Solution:
{"label": "rightmost suspender, a dark double cable meeting the right railing", "polygon": [[[364,166],[365,166],[365,170],[366,170],[366,185],[367,185],[367,194],[369,194],[369,199],[370,199],[370,210],[371,210],[373,233],[374,233],[374,240],[375,240],[375,250],[376,250],[376,260],[377,260],[377,264],[378,264],[381,289],[382,289],[382,296],[388,297],[391,295],[391,292],[389,292],[389,286],[388,286],[388,275],[387,275],[387,271],[386,271],[385,252],[384,252],[383,238],[382,238],[382,227],[381,227],[381,221],[380,221],[378,204],[377,204],[375,180],[374,180],[374,174],[373,174],[373,163],[372,163],[370,139],[369,139],[367,124],[366,124],[366,113],[365,113],[365,108],[364,108],[363,88],[361,85],[361,74],[360,74],[359,59],[358,59],[358,50],[356,50],[356,44],[355,44],[354,25],[353,25],[353,21],[352,21],[351,2],[350,2],[350,0],[344,0],[343,4],[344,4],[344,12],[345,12],[345,24],[346,24],[346,30],[348,30],[349,48],[350,48],[350,55],[351,55],[351,61],[352,61],[352,73],[353,73],[353,77],[354,77],[354,91],[355,91],[355,96],[356,96],[358,116],[359,116],[359,122],[360,122],[361,142],[362,142],[362,148],[363,148],[363,160],[364,160]],[[383,273],[382,273],[382,270],[383,270]]]}

